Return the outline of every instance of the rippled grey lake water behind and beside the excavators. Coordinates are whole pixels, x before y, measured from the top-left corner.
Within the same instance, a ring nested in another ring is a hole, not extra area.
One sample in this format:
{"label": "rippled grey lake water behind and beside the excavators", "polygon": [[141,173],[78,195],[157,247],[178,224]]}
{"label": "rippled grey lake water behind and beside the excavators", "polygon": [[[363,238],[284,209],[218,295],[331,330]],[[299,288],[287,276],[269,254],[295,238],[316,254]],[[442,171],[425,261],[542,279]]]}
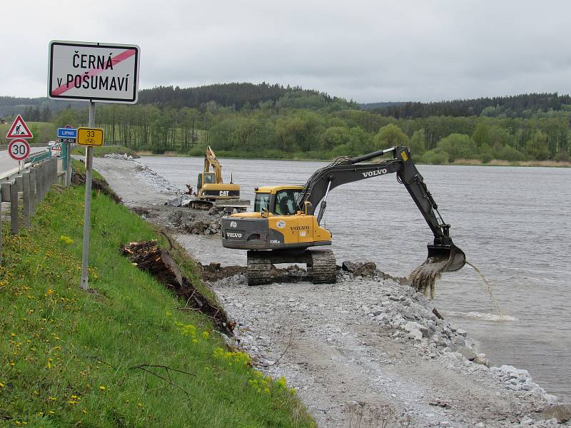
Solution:
{"label": "rippled grey lake water behind and beside the excavators", "polygon": [[[141,161],[181,188],[186,183],[196,188],[203,168],[203,158]],[[233,173],[242,197],[252,201],[255,186],[303,185],[313,171],[326,165],[237,159],[222,163],[224,180],[229,182]],[[468,265],[443,275],[435,305],[468,330],[493,365],[529,370],[547,392],[569,401],[571,169],[433,165],[418,169],[443,218],[452,225],[454,243],[490,280],[505,316],[498,319],[485,285]],[[433,238],[394,174],[335,188],[324,219],[333,233],[338,264],[371,260],[392,275],[407,275],[422,263],[426,244]],[[223,264],[246,261],[236,250],[223,254]]]}

